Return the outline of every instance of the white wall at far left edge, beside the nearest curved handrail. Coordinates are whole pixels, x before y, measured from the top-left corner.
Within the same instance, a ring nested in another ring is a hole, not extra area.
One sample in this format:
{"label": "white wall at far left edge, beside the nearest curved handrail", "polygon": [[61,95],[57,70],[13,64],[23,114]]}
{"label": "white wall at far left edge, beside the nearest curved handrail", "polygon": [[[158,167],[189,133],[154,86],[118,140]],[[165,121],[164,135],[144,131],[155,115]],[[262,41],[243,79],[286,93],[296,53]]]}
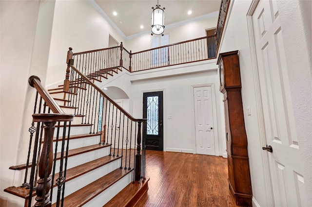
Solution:
{"label": "white wall at far left edge, beside the nearest curved handrail", "polygon": [[40,1],[0,1],[0,206],[14,207],[3,190],[13,184]]}

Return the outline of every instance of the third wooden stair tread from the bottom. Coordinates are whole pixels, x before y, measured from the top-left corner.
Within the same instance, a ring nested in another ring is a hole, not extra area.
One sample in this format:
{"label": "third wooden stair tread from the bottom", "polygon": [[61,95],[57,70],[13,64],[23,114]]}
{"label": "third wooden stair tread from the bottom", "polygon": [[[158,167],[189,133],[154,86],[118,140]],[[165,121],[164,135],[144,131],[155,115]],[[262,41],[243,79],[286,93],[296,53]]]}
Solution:
{"label": "third wooden stair tread from the bottom", "polygon": [[[106,165],[114,160],[117,160],[121,158],[121,156],[117,157],[117,156],[110,156],[110,155],[107,155],[107,156],[103,156],[103,157],[100,157],[98,159],[95,159],[95,160],[92,160],[90,162],[87,162],[87,163],[83,163],[81,165],[78,165],[76,167],[73,167],[73,168],[70,168],[70,169],[67,169],[66,171],[66,182],[67,181],[70,181],[82,174],[85,174],[85,173],[89,173],[90,171],[92,170],[95,170],[103,165]],[[53,187],[56,187],[56,183],[57,183],[57,179],[59,177],[59,173],[55,173],[55,177],[54,177],[54,185]],[[5,189],[4,191],[6,192],[9,192],[9,193],[12,193],[14,195],[17,195],[21,198],[28,198],[29,197],[29,189],[26,189],[26,188],[23,188],[23,187],[9,187],[7,189]],[[36,191],[33,191],[32,195],[34,196],[36,194]]]}

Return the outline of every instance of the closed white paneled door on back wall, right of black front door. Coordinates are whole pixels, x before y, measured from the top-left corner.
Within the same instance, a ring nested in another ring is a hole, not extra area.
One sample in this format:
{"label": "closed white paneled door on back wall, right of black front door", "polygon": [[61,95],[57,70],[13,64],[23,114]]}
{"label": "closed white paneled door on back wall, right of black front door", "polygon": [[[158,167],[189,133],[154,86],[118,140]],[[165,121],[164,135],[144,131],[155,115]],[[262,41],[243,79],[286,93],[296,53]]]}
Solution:
{"label": "closed white paneled door on back wall, right of black front door", "polygon": [[215,155],[211,86],[194,88],[196,153]]}

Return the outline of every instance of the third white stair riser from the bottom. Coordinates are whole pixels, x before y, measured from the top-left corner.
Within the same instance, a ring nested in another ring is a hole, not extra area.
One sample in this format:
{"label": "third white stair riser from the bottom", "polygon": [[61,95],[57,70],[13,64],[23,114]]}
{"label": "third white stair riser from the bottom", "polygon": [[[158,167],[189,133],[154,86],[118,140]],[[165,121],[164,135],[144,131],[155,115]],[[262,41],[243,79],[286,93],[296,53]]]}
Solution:
{"label": "third white stair riser from the bottom", "polygon": [[[109,154],[110,154],[110,148],[105,147],[105,148],[101,148],[101,149],[94,150],[91,152],[87,152],[84,154],[70,156],[70,157],[68,157],[68,161],[67,161],[67,169],[76,167],[76,166],[81,165],[83,163],[90,162],[92,160],[98,159],[102,156],[106,156]],[[65,162],[65,160],[64,160],[64,162]],[[57,160],[55,173],[59,173],[59,163],[60,163],[60,160]],[[27,181],[29,181],[29,178],[30,178],[30,171],[31,171],[31,168],[28,168]],[[20,171],[16,170],[14,172],[15,172],[14,186],[21,186],[21,184],[24,183],[24,176],[25,176],[26,170],[25,169],[20,170]]]}

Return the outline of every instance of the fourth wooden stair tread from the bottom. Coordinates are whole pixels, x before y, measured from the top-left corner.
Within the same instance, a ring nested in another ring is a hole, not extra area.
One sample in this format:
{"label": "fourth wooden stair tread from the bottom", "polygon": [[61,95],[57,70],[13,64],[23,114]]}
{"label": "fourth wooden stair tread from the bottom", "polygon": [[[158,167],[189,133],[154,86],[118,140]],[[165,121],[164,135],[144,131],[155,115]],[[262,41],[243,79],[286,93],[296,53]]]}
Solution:
{"label": "fourth wooden stair tread from the bottom", "polygon": [[[109,146],[110,146],[110,144],[94,144],[94,145],[89,145],[89,146],[86,146],[86,147],[80,147],[80,148],[68,150],[68,157],[79,155],[79,154],[82,154],[82,153],[91,152],[91,151],[98,150],[98,149],[101,149],[101,148],[104,148],[104,147],[109,147]],[[60,153],[57,153],[57,160],[58,159],[60,159]],[[30,168],[31,166],[32,166],[32,163],[30,162],[29,165],[28,165],[28,168]],[[9,169],[11,169],[11,170],[23,170],[23,169],[26,169],[26,163],[20,164],[20,165],[11,166]]]}

